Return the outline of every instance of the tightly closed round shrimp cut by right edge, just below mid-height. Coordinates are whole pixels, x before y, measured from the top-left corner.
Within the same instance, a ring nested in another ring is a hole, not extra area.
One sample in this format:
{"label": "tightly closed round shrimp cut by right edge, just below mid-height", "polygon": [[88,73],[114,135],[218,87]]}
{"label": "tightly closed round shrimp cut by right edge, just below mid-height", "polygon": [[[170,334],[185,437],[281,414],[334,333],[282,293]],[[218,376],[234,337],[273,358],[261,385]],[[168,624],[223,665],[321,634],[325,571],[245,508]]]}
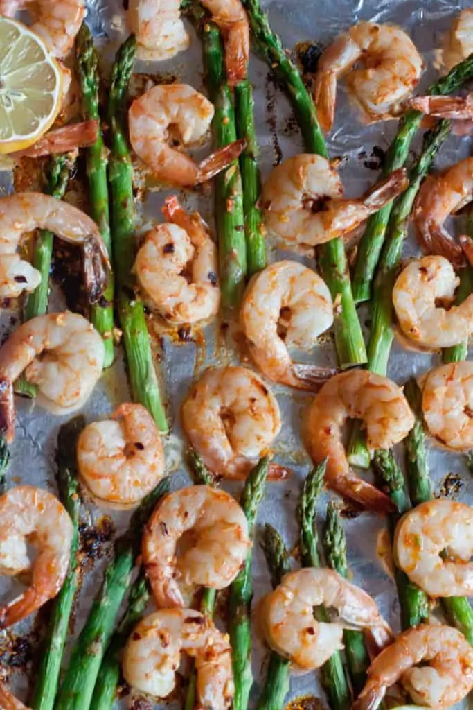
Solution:
{"label": "tightly closed round shrimp cut by right edge, just below mid-height", "polygon": [[422,393],[425,424],[452,449],[473,448],[473,362],[430,370]]}

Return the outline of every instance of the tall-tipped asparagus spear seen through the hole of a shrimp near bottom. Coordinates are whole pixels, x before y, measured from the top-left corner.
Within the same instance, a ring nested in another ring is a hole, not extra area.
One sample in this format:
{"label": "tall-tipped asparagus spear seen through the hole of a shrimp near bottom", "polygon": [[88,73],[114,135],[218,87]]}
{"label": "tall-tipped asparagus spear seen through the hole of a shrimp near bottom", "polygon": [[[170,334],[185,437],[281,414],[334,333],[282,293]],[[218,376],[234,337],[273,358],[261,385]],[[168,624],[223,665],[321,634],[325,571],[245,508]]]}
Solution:
{"label": "tall-tipped asparagus spear seen through the hole of a shrimp near bottom", "polygon": [[[304,567],[321,567],[317,550],[316,501],[323,488],[326,467],[327,461],[318,464],[308,474],[302,489],[300,547]],[[328,611],[323,606],[314,609],[314,616],[317,621],[330,622]],[[331,710],[348,710],[351,707],[352,697],[340,651],[335,652],[321,667],[321,683]]]}

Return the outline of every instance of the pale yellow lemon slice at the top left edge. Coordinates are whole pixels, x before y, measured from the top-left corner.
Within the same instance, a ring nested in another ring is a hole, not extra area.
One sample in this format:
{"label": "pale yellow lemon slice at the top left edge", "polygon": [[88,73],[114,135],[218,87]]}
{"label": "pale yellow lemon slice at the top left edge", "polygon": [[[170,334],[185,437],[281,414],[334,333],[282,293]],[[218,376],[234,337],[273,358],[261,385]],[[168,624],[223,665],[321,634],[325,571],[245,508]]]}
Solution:
{"label": "pale yellow lemon slice at the top left edge", "polygon": [[33,145],[62,104],[62,72],[43,40],[0,16],[0,153]]}

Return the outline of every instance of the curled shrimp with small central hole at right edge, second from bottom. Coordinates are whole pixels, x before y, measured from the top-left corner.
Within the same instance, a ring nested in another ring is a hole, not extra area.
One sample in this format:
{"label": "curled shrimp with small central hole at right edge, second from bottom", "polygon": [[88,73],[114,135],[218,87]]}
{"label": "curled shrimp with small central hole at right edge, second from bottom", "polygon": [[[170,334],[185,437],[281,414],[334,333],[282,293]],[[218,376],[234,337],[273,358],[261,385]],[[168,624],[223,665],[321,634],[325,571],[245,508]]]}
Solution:
{"label": "curled shrimp with small central hole at right edge, second from bottom", "polygon": [[429,596],[471,596],[473,508],[447,500],[421,503],[397,524],[393,552],[397,566]]}

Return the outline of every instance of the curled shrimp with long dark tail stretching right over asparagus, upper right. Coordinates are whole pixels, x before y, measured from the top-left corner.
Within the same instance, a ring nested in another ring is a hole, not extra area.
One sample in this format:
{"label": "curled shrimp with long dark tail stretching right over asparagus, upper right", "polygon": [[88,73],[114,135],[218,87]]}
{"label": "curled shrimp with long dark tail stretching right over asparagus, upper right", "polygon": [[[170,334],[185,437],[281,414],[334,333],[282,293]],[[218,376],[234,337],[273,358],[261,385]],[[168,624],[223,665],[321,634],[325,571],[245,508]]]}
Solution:
{"label": "curled shrimp with long dark tail stretching right over asparagus, upper right", "polygon": [[396,170],[358,200],[345,200],[333,163],[321,155],[294,155],[272,170],[263,188],[265,224],[284,246],[304,251],[345,236],[407,185],[404,170]]}

